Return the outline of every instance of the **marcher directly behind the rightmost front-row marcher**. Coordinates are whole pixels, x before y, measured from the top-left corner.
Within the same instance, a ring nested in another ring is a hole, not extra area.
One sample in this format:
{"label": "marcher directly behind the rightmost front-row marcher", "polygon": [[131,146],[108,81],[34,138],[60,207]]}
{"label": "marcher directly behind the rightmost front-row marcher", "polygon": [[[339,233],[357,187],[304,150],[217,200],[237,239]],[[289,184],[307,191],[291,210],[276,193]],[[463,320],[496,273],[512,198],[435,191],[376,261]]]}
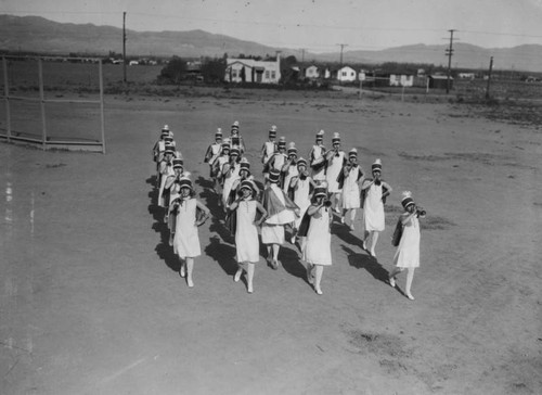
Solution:
{"label": "marcher directly behind the rightmost front-row marcher", "polygon": [[376,257],[375,246],[378,240],[378,233],[384,230],[384,203],[391,193],[391,187],[382,178],[382,161],[376,160],[372,165],[373,178],[363,180],[361,190],[364,194],[363,203],[363,250],[367,251],[366,242],[371,239],[369,253]]}

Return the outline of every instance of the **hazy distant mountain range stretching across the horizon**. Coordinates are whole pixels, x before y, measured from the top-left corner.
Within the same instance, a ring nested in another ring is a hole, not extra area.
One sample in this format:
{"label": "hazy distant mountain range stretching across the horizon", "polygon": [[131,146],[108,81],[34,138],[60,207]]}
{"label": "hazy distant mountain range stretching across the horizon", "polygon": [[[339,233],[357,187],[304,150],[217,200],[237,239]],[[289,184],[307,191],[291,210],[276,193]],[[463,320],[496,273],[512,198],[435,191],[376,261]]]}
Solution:
{"label": "hazy distant mountain range stretching across the horizon", "polygon": [[[126,30],[127,56],[199,58],[245,55],[283,56],[301,53],[286,48],[272,48],[233,37],[203,30],[190,31],[136,31]],[[423,43],[390,48],[380,51],[344,51],[344,64],[378,64],[384,62],[424,63],[448,65],[448,46]],[[453,44],[452,67],[487,69],[493,56],[493,67],[514,72],[542,72],[542,46],[525,44],[514,48],[481,48],[463,42]],[[0,15],[0,51],[31,51],[49,54],[70,52],[107,55],[109,51],[122,52],[122,29],[92,24],[56,23],[39,16]],[[306,62],[339,62],[340,53],[310,53]]]}

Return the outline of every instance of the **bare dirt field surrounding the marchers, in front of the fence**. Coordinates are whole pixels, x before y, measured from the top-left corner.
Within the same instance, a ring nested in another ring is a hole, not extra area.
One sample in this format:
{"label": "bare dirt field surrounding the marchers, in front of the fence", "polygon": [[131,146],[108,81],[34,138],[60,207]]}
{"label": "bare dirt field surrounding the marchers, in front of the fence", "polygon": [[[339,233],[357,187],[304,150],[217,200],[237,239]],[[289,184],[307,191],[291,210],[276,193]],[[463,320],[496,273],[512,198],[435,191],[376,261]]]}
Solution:
{"label": "bare dirt field surrounding the marchers, in front of the fence", "polygon": [[[467,110],[281,92],[108,97],[106,155],[0,144],[0,393],[541,394],[542,133]],[[261,258],[254,294],[234,283],[203,156],[235,119],[260,179],[273,124],[304,155],[324,129],[365,169],[380,157],[393,192],[377,260],[360,247],[360,213],[356,231],[333,227],[322,296],[291,244],[278,271]],[[164,124],[215,214],[193,289],[154,207]],[[413,302],[385,283],[405,189],[428,213]]]}

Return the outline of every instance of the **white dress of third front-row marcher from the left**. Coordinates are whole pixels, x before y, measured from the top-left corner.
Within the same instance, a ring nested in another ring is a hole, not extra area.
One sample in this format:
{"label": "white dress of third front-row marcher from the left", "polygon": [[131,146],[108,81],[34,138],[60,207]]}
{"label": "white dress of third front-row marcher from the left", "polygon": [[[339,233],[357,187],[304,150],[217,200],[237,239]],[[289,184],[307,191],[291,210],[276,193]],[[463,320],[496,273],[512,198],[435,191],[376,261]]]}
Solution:
{"label": "white dress of third front-row marcher from the left", "polygon": [[311,265],[332,265],[332,234],[327,207],[320,207],[310,218],[304,260]]}

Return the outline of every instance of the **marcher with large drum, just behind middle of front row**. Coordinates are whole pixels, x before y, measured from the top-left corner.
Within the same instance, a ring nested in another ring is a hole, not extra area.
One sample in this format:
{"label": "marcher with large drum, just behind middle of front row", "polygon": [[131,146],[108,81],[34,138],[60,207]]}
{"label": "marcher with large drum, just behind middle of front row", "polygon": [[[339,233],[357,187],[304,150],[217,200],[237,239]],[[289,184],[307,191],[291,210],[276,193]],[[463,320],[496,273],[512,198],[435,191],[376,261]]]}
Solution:
{"label": "marcher with large drum, just behind middle of front row", "polygon": [[261,204],[268,218],[261,227],[261,242],[267,245],[268,263],[279,269],[279,251],[284,244],[284,226],[299,216],[299,207],[280,188],[281,171],[271,169]]}

